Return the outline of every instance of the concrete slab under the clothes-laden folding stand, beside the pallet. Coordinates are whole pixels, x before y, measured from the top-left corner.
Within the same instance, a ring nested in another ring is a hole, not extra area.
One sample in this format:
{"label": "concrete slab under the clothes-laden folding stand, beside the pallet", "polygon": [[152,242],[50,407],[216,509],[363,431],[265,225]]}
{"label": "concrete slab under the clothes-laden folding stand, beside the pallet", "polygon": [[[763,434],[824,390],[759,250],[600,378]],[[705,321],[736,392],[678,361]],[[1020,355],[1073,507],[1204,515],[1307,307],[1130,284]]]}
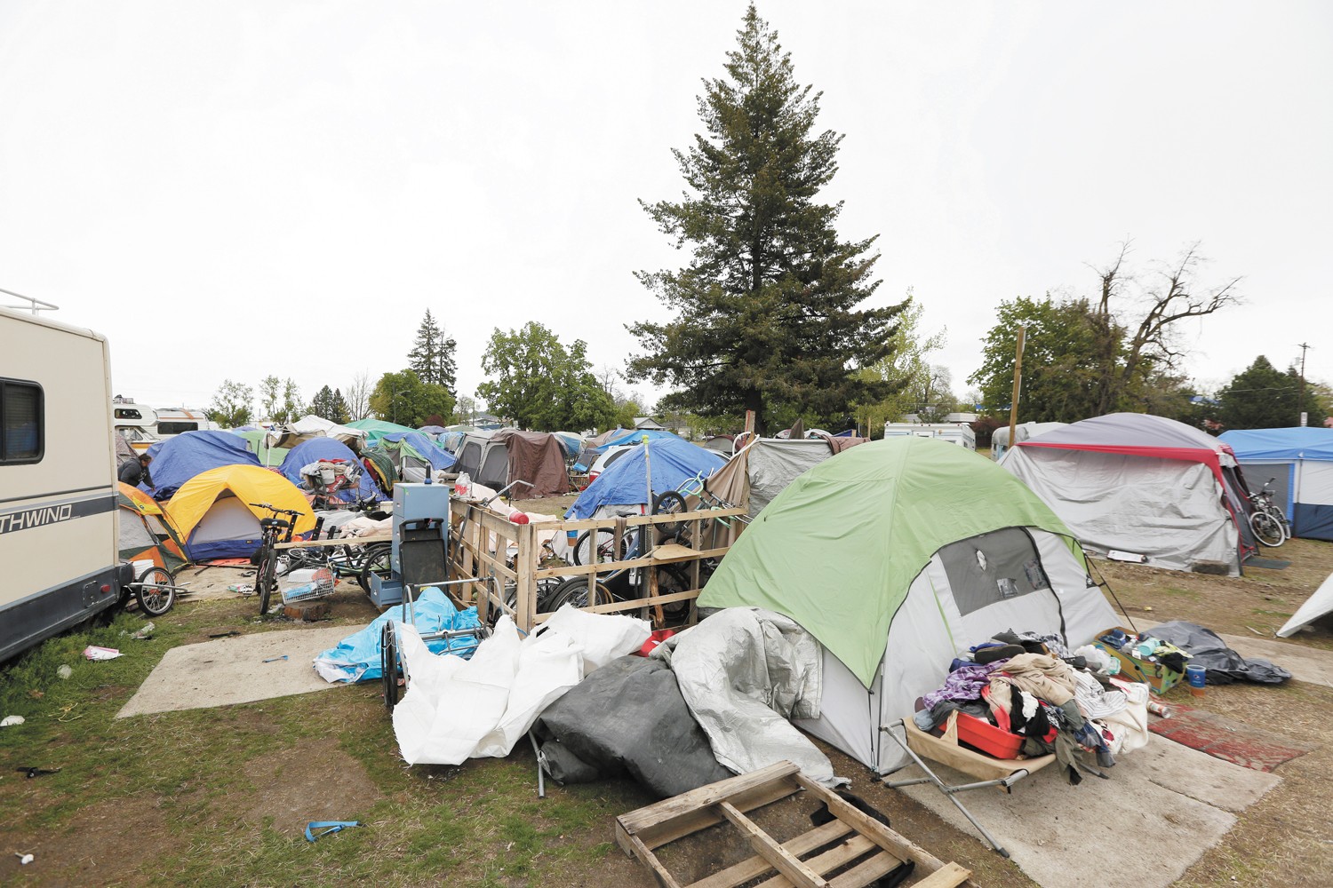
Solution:
{"label": "concrete slab under the clothes-laden folding stand, beside the pallet", "polygon": [[[938,771],[949,781],[973,779]],[[912,766],[890,779],[918,774]],[[1106,774],[1109,780],[1085,775],[1072,787],[1052,766],[1009,795],[976,789],[958,799],[1044,888],[1166,888],[1226,835],[1236,813],[1281,781],[1158,739],[1118,759]],[[934,787],[902,792],[980,839]]]}

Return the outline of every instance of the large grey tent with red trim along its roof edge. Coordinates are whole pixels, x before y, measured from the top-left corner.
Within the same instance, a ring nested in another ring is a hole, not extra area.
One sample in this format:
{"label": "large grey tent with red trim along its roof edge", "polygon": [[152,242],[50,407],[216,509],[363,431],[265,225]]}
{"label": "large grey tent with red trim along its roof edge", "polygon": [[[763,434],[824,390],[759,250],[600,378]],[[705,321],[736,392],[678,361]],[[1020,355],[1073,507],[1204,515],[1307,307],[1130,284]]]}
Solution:
{"label": "large grey tent with red trim along its roof edge", "polygon": [[1249,501],[1230,447],[1182,422],[1113,413],[1020,441],[998,463],[1069,525],[1088,551],[1169,570],[1253,553]]}

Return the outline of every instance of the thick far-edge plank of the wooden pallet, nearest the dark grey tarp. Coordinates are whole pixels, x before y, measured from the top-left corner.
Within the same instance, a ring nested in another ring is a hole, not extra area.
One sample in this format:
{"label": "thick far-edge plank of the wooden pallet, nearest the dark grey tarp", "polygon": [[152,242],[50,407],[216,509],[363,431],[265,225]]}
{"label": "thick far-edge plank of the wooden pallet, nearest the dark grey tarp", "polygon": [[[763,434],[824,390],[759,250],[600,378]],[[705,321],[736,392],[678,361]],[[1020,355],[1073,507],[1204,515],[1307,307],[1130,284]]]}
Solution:
{"label": "thick far-edge plank of the wooden pallet, nearest the dark grey tarp", "polygon": [[718,780],[623,813],[616,817],[616,823],[649,848],[659,848],[668,841],[721,823],[722,816],[713,811],[712,805],[724,799],[740,811],[753,811],[797,792],[798,787],[790,779],[797,774],[797,767],[790,762],[778,762],[752,774]]}

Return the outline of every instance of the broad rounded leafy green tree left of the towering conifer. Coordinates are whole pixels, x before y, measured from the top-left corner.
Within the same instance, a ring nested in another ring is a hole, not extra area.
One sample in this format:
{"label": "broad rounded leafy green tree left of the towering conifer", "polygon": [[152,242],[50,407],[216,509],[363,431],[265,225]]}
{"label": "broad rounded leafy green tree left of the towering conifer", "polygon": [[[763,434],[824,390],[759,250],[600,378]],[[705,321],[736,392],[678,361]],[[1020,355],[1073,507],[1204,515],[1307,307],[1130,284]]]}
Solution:
{"label": "broad rounded leafy green tree left of the towering conifer", "polygon": [[604,427],[615,417],[611,395],[588,362],[587,343],[568,349],[536,321],[519,330],[491,334],[481,369],[491,377],[477,386],[492,413],[520,429]]}

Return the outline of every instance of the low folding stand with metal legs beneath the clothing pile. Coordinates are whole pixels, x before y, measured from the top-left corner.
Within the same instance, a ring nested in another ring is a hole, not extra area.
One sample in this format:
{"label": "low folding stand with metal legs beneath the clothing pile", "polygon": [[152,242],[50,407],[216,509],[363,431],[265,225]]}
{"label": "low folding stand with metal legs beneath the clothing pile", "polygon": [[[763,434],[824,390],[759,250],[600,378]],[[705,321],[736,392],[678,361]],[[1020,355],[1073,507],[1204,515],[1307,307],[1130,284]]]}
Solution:
{"label": "low folding stand with metal legs beneath the clothing pile", "polygon": [[[902,738],[898,738],[897,728],[902,730]],[[1008,857],[1009,852],[1005,851],[994,836],[986,832],[986,828],[977,823],[977,819],[972,816],[961,801],[958,801],[957,793],[966,792],[968,789],[981,789],[985,787],[998,787],[1004,792],[1009,792],[1013,784],[1018,783],[1030,774],[1036,774],[1048,764],[1056,760],[1056,756],[1042,755],[1034,759],[996,759],[989,755],[982,755],[981,752],[973,752],[972,750],[958,744],[958,714],[950,712],[949,720],[945,723],[944,736],[934,736],[933,734],[926,734],[916,726],[912,719],[900,719],[896,724],[890,724],[881,728],[888,734],[894,743],[902,747],[912,760],[921,768],[926,776],[914,777],[910,780],[884,780],[884,785],[889,788],[912,787],[920,783],[933,783],[934,788],[944,793],[954,807],[962,812],[972,825],[985,837],[990,847],[1000,852],[1001,856]],[[940,764],[945,764],[954,771],[961,771],[969,776],[977,777],[977,783],[958,783],[950,784],[940,779],[940,776],[930,770],[922,759],[930,759]]]}

